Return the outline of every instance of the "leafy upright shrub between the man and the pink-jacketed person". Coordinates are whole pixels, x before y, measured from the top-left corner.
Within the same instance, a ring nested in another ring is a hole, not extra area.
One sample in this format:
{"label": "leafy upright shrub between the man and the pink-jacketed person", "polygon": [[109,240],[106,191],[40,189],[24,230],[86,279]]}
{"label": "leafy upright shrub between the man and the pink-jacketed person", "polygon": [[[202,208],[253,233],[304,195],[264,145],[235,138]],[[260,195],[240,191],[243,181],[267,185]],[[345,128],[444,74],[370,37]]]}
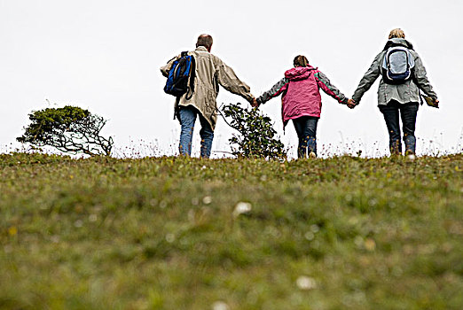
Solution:
{"label": "leafy upright shrub between the man and the pink-jacketed person", "polygon": [[239,103],[225,105],[222,110],[225,122],[239,133],[229,139],[233,155],[263,159],[286,158],[284,145],[276,136],[270,117],[264,116],[258,109],[243,108]]}

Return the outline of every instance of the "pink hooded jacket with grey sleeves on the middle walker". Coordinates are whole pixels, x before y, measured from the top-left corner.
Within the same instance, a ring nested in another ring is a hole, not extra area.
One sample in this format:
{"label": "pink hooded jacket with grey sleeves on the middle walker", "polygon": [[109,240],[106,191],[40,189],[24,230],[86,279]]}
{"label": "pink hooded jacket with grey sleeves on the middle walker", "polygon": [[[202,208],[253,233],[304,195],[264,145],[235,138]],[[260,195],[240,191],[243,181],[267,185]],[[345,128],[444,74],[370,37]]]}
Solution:
{"label": "pink hooded jacket with grey sleeves on the middle walker", "polygon": [[323,89],[340,104],[347,104],[348,98],[313,66],[298,66],[287,70],[285,77],[258,97],[257,102],[264,104],[272,97],[283,94],[282,117],[286,126],[288,120],[302,116],[320,117],[322,102],[319,89]]}

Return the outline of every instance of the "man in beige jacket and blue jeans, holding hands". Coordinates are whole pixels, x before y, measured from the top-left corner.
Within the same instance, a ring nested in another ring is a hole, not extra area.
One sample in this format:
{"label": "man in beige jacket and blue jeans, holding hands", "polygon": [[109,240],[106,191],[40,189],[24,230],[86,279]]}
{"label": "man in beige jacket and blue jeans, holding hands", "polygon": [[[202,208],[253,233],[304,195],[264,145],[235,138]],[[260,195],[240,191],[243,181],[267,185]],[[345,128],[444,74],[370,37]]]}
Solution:
{"label": "man in beige jacket and blue jeans, holding hands", "polygon": [[[249,86],[233,72],[230,66],[224,64],[220,58],[210,53],[212,47],[210,35],[200,35],[196,43],[196,50],[188,52],[196,61],[194,92],[192,96],[177,97],[178,119],[181,124],[179,151],[181,155],[190,156],[192,153],[192,132],[196,117],[200,117],[201,158],[209,158],[214,139],[214,129],[217,120],[216,97],[218,86],[245,98],[253,103],[255,97],[251,95]],[[161,67],[161,73],[168,76],[169,69],[177,58],[171,59],[166,66]]]}

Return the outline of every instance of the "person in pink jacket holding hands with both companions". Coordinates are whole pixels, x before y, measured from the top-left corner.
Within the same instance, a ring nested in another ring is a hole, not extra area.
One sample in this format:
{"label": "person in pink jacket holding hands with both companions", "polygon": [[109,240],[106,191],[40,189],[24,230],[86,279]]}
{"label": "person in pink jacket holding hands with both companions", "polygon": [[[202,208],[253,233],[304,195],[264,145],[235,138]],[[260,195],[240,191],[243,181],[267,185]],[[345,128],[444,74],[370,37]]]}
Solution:
{"label": "person in pink jacket holding hands with both companions", "polygon": [[317,124],[322,105],[319,89],[323,89],[340,104],[354,105],[331,84],[325,74],[310,66],[307,58],[302,55],[296,56],[294,68],[287,70],[285,77],[255,102],[255,106],[258,106],[282,94],[283,126],[286,127],[287,122],[293,120],[299,138],[299,159],[305,158],[307,152],[310,158],[317,157]]}

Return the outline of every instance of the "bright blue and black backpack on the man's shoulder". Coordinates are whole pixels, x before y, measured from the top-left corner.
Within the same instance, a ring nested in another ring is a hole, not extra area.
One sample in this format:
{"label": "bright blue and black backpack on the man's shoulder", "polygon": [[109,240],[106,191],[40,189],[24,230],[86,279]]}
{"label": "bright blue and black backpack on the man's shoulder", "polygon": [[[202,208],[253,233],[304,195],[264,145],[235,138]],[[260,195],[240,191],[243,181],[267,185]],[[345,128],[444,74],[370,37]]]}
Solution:
{"label": "bright blue and black backpack on the man's shoulder", "polygon": [[190,99],[194,92],[195,71],[194,57],[182,51],[180,58],[170,67],[164,91],[175,97],[181,97],[186,93],[186,99]]}

